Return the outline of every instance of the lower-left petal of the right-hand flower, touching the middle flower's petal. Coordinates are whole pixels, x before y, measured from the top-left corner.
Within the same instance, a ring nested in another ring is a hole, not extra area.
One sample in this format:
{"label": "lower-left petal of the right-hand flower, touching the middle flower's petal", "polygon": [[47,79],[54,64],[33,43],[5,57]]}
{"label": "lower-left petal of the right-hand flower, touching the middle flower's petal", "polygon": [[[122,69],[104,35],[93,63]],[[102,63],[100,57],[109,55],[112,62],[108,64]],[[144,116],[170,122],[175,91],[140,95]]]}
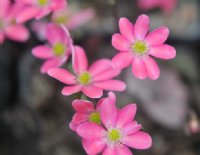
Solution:
{"label": "lower-left petal of the right-hand flower, touching the middle flower's petal", "polygon": [[130,52],[120,52],[112,58],[114,68],[123,69],[128,67],[133,61],[133,54]]}

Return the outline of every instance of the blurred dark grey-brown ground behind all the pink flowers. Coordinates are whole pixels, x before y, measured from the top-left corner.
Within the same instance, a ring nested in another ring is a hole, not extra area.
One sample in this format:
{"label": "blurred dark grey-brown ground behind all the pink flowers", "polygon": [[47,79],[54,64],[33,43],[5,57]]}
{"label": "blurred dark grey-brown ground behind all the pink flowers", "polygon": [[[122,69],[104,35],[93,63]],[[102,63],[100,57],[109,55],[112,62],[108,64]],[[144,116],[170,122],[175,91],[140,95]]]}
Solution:
{"label": "blurred dark grey-brown ground behind all the pink flowers", "polygon": [[[142,10],[136,0],[71,0],[70,6],[96,12],[71,31],[90,63],[117,53],[111,36],[119,31],[122,16],[135,22],[146,13],[151,29],[169,27],[167,43],[175,46],[177,57],[156,60],[161,68],[156,81],[138,80],[125,69],[119,78],[128,88],[117,93],[117,104],[137,103],[136,120],[153,137],[152,148],[133,150],[134,155],[200,155],[200,1],[177,0],[167,13],[159,8]],[[86,154],[68,126],[74,114],[71,102],[77,96],[62,96],[63,84],[42,75],[42,61],[31,55],[31,49],[44,42],[32,31],[26,43],[6,40],[0,45],[0,155]]]}

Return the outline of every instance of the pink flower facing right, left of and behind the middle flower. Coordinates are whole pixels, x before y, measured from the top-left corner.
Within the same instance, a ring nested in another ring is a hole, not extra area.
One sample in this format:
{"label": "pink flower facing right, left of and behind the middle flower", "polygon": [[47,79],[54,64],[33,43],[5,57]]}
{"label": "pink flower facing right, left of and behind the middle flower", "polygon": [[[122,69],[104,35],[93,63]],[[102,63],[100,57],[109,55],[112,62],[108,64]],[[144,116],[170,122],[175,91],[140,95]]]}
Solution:
{"label": "pink flower facing right, left of and behind the middle flower", "polygon": [[58,25],[49,24],[47,26],[47,40],[50,45],[40,45],[32,50],[35,57],[47,59],[41,67],[42,73],[63,65],[73,48],[69,33]]}

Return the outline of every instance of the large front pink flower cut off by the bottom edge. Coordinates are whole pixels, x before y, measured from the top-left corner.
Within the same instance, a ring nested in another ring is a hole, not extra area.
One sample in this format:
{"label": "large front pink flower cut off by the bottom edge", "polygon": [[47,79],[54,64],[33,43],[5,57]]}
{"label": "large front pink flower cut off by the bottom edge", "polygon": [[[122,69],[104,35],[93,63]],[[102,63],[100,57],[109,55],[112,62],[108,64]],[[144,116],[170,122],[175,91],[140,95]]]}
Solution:
{"label": "large front pink flower cut off by the bottom edge", "polygon": [[152,145],[151,136],[143,131],[141,125],[133,121],[136,105],[129,104],[118,110],[115,96],[109,93],[100,106],[102,126],[92,122],[85,122],[78,126],[77,133],[83,138],[83,147],[87,154],[97,155],[132,155],[128,147],[148,149]]}

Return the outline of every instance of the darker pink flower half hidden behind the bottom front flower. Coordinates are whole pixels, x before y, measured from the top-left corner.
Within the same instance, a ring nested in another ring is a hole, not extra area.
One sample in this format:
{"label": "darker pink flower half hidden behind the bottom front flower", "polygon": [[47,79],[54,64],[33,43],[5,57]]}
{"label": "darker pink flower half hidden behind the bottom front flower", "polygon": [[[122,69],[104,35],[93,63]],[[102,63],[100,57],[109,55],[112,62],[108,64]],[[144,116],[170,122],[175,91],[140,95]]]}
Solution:
{"label": "darker pink flower half hidden behind the bottom front flower", "polygon": [[[116,100],[115,96],[110,96],[110,99],[113,101]],[[97,102],[96,108],[90,101],[74,100],[72,106],[76,110],[76,113],[70,122],[70,128],[76,131],[77,127],[84,122],[92,122],[101,125],[100,106],[103,100],[104,98]]]}

